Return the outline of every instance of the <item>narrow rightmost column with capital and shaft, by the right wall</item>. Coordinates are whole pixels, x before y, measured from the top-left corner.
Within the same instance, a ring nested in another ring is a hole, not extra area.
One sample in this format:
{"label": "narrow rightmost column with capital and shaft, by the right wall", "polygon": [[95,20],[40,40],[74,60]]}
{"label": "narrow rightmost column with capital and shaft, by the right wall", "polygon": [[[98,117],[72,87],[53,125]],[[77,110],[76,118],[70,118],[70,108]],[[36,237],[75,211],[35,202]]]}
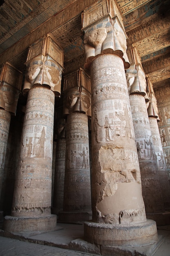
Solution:
{"label": "narrow rightmost column with capital and shaft, by the right wall", "polygon": [[[157,122],[159,121],[157,99],[155,97],[152,83],[149,77],[147,78],[147,81],[148,81],[148,96],[150,98],[150,101],[148,103],[148,116],[149,116],[150,129],[152,132],[153,148],[157,156],[158,175],[159,175],[159,181],[161,185],[161,192],[163,196],[163,204],[165,209],[169,210],[170,209],[170,185],[168,181],[168,171],[166,170],[166,160],[163,155],[163,148],[162,148],[161,137],[159,133],[158,122]],[[169,224],[166,224],[166,225],[169,225]]]}

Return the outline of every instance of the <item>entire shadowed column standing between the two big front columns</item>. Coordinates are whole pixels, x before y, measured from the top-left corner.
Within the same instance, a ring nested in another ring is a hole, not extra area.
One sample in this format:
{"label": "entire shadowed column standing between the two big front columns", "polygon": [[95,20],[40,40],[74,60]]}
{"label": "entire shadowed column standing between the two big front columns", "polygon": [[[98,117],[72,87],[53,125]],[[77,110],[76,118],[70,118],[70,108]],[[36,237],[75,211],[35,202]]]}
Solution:
{"label": "entire shadowed column standing between the two big front columns", "polygon": [[63,211],[59,220],[79,222],[91,219],[91,178],[88,116],[91,115],[90,78],[79,69],[64,77],[66,164]]}

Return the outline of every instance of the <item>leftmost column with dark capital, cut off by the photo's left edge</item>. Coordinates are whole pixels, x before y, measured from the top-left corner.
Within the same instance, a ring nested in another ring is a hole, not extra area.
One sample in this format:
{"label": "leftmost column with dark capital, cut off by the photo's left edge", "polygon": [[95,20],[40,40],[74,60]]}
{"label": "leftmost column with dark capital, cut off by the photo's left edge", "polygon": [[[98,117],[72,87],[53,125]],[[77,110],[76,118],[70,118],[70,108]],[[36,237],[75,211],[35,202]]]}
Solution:
{"label": "leftmost column with dark capital, cut off by the photo's left edge", "polygon": [[0,197],[4,178],[10,120],[11,115],[16,114],[21,85],[22,73],[9,63],[6,63],[2,67],[0,74]]}

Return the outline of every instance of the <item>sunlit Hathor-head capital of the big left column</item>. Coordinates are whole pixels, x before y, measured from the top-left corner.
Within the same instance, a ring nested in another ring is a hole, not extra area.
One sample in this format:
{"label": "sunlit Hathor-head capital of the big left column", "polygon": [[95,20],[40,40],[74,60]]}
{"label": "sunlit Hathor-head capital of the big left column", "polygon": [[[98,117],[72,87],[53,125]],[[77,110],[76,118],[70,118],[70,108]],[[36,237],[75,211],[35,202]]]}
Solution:
{"label": "sunlit Hathor-head capital of the big left column", "polygon": [[33,86],[43,85],[55,92],[56,96],[60,96],[63,52],[52,38],[47,36],[33,44],[25,64],[27,74],[23,92]]}

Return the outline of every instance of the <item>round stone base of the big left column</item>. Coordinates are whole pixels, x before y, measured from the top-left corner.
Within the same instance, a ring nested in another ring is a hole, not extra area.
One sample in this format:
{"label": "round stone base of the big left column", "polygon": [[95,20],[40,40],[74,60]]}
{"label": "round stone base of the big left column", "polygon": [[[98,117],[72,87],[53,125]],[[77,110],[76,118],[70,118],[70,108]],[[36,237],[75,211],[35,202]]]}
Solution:
{"label": "round stone base of the big left column", "polygon": [[47,231],[55,229],[56,225],[57,216],[53,214],[37,218],[5,216],[3,230],[8,232]]}

